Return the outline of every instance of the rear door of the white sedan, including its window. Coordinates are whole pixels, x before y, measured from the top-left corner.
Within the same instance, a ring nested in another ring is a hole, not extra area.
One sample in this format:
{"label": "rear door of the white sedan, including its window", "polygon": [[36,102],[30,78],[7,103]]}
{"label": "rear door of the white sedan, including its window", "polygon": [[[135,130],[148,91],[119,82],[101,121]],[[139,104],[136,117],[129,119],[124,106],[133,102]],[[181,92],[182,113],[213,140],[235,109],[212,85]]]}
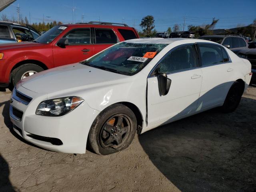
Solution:
{"label": "rear door of the white sedan, including its window", "polygon": [[221,46],[198,43],[197,47],[203,74],[197,109],[201,110],[224,102],[233,83],[234,71],[228,54]]}

